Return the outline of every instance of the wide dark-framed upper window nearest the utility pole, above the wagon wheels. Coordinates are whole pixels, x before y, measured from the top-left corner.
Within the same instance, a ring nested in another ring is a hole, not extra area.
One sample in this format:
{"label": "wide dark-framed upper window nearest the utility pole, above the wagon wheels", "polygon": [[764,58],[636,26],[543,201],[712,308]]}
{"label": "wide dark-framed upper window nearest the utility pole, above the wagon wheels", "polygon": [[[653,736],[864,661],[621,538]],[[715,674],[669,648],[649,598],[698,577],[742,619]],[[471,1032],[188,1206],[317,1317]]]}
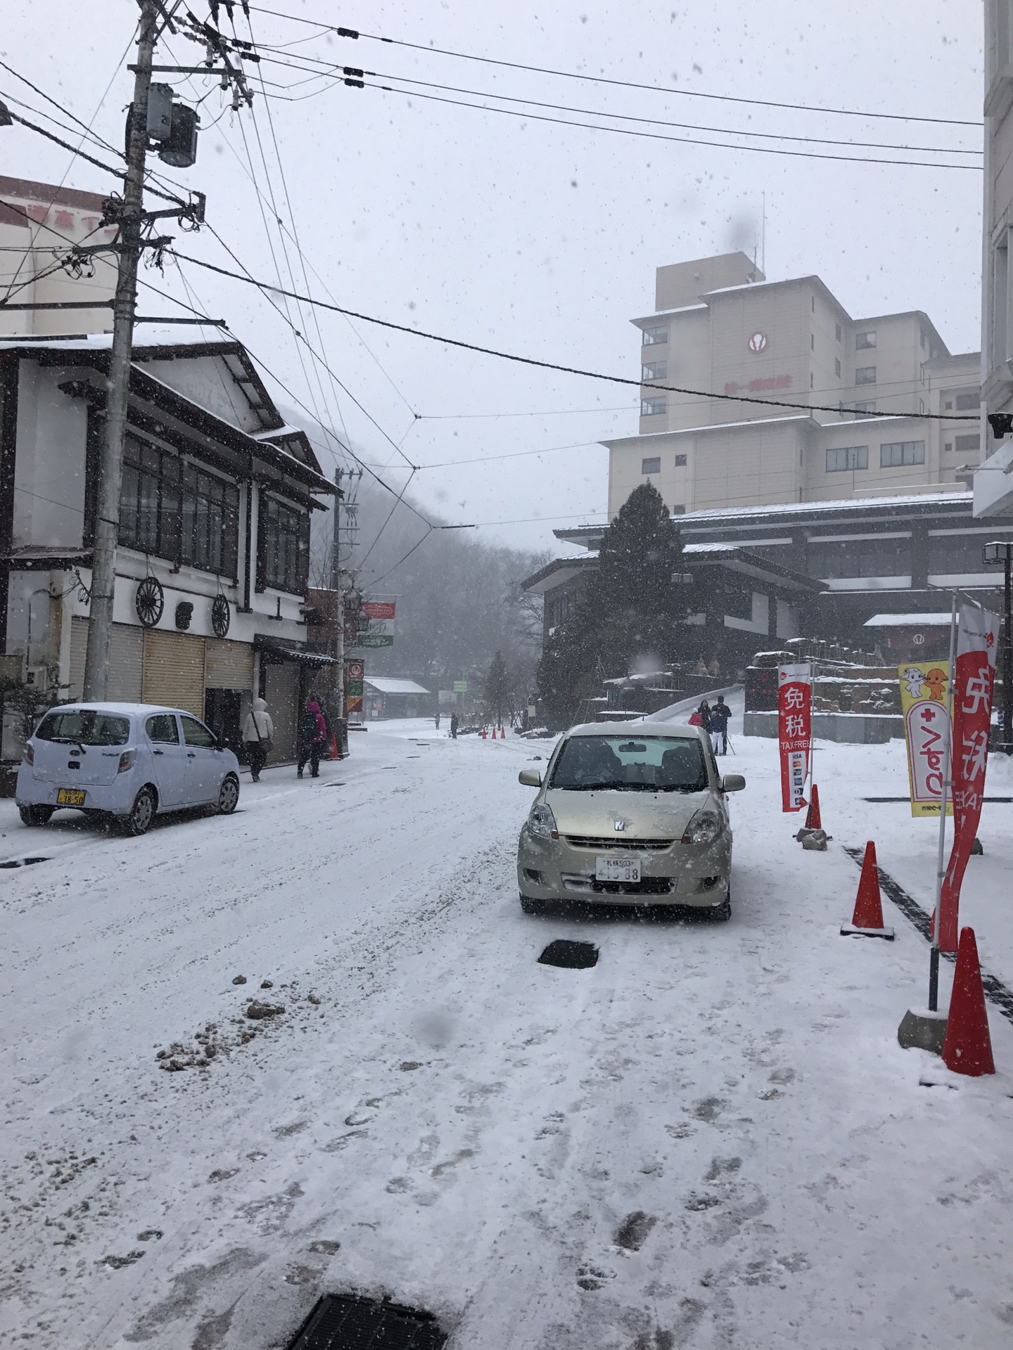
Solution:
{"label": "wide dark-framed upper window nearest the utility pole, above the wagon wheels", "polygon": [[220,576],[238,575],[239,489],[127,436],[119,543]]}

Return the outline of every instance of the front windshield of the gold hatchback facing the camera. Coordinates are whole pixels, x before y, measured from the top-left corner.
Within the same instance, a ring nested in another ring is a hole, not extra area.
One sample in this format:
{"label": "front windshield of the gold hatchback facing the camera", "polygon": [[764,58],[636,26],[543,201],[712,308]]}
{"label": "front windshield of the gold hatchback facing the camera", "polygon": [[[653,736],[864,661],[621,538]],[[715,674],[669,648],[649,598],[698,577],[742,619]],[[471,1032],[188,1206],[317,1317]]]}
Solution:
{"label": "front windshield of the gold hatchback facing the camera", "polygon": [[702,792],[704,748],[689,737],[571,736],[548,786],[571,792]]}

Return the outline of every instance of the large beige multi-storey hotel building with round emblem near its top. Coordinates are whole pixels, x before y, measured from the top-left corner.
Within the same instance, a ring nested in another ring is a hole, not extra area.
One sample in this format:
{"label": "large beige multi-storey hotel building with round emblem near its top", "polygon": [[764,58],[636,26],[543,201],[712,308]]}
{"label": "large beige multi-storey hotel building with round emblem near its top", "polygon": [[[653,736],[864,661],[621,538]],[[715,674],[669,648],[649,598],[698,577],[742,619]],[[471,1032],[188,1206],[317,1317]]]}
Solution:
{"label": "large beige multi-storey hotel building with round emblem near its top", "polygon": [[611,517],[643,482],[675,514],[970,486],[981,356],[920,310],[852,319],[819,277],[767,282],[736,252],[659,267],[633,325],[640,428],[604,443]]}

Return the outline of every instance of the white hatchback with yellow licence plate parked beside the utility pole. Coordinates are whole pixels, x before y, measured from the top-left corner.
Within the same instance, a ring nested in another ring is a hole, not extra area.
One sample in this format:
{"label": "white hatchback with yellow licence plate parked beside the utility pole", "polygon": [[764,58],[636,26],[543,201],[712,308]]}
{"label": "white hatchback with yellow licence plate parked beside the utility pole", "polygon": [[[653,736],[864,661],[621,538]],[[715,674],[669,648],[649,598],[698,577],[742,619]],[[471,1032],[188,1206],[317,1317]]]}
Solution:
{"label": "white hatchback with yellow licence plate parked beside the utility pole", "polygon": [[26,825],[61,806],[143,834],[161,811],[239,802],[239,760],[192,713],[151,703],[51,707],[24,747],[15,790]]}

